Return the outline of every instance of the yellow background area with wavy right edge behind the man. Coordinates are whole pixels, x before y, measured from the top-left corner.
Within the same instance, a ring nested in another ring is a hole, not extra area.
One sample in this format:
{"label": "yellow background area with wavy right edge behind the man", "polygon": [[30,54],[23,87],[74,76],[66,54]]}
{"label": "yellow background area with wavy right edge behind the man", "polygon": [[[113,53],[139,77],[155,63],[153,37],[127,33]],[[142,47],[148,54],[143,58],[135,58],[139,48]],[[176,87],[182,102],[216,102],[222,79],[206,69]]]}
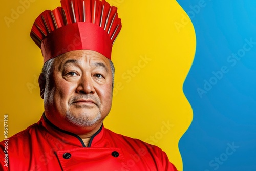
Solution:
{"label": "yellow background area with wavy right edge behind the man", "polygon": [[[60,6],[58,0],[30,0],[27,8],[22,8],[21,2],[28,1],[4,1],[0,7],[1,140],[5,114],[9,115],[11,136],[37,122],[44,111],[37,83],[42,56],[29,34],[42,11]],[[187,15],[174,0],[108,2],[118,7],[123,28],[112,52],[116,68],[114,99],[104,125],[161,147],[182,170],[178,142],[193,116],[182,91],[195,54],[193,25],[183,20],[182,29],[176,29],[174,23],[181,23],[182,16]],[[6,17],[12,18],[13,11],[19,16],[6,24]],[[142,58],[148,60],[143,62]],[[168,123],[172,126],[166,129]]]}

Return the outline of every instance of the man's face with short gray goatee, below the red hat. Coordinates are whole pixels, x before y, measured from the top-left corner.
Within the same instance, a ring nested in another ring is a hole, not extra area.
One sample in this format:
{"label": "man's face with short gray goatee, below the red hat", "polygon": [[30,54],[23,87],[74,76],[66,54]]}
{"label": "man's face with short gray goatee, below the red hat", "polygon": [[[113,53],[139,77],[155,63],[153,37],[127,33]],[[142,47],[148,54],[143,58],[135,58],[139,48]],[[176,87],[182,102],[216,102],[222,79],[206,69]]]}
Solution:
{"label": "man's face with short gray goatee, below the red hat", "polygon": [[95,127],[101,125],[111,105],[112,73],[106,57],[77,50],[55,59],[45,94],[45,112],[53,124],[73,133],[77,127]]}

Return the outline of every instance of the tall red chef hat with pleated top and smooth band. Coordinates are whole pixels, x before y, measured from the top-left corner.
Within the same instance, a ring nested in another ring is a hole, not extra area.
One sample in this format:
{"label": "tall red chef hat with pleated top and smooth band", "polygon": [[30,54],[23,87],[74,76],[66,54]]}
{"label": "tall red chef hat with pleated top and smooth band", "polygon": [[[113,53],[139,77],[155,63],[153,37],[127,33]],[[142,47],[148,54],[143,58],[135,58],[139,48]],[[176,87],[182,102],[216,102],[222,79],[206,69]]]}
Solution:
{"label": "tall red chef hat with pleated top and smooth band", "polygon": [[117,8],[105,0],[61,0],[42,12],[30,36],[41,48],[44,63],[73,50],[93,50],[111,60],[112,45],[121,30]]}

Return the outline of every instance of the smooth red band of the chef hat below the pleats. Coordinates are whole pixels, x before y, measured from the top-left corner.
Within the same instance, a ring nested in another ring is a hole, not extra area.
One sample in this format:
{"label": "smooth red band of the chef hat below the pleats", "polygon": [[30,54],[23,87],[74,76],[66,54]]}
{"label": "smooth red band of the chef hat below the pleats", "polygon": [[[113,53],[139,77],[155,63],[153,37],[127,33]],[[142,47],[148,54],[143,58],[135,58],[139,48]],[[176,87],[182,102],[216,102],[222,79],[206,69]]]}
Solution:
{"label": "smooth red band of the chef hat below the pleats", "polygon": [[49,59],[73,50],[93,50],[111,60],[112,42],[99,26],[78,22],[51,32],[42,40],[41,51],[44,63]]}

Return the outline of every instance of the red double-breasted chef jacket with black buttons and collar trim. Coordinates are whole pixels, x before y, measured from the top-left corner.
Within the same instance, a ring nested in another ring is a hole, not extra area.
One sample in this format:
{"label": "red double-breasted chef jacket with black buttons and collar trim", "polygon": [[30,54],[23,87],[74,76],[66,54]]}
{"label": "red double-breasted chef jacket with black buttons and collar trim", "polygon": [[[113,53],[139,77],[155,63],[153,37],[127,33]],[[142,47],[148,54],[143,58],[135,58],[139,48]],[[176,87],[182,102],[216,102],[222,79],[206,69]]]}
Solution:
{"label": "red double-breasted chef jacket with black buttons and collar trim", "polygon": [[177,170],[157,146],[102,125],[86,147],[79,136],[59,129],[45,115],[2,141],[1,148],[0,170]]}

